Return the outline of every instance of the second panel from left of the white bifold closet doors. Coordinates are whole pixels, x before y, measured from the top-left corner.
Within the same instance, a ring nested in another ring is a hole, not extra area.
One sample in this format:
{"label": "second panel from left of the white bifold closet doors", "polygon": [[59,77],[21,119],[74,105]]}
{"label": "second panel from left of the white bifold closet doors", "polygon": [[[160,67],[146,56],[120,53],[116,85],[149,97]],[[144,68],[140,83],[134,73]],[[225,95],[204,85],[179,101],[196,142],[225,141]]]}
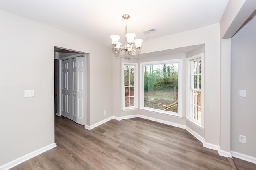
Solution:
{"label": "second panel from left of the white bifold closet doors", "polygon": [[67,60],[67,114],[66,117],[72,120],[72,59]]}

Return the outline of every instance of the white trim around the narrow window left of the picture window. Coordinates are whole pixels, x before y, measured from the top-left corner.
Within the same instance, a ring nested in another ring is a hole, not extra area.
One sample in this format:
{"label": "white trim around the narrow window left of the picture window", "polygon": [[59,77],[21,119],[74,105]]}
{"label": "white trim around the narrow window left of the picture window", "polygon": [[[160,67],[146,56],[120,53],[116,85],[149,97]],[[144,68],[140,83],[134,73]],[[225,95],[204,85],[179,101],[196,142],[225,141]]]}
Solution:
{"label": "white trim around the narrow window left of the picture window", "polygon": [[[125,87],[124,87],[124,66],[134,66],[134,106],[125,107]],[[135,110],[138,109],[138,63],[122,63],[122,110]]]}

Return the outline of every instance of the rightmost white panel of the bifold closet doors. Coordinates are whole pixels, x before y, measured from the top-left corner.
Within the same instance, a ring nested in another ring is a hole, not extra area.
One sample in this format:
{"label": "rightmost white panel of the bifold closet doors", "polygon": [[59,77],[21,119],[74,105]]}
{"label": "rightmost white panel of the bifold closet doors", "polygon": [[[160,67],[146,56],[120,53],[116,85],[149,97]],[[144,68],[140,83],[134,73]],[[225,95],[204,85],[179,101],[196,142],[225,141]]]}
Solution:
{"label": "rightmost white panel of the bifold closet doors", "polygon": [[77,121],[85,125],[85,57],[76,57],[77,74]]}

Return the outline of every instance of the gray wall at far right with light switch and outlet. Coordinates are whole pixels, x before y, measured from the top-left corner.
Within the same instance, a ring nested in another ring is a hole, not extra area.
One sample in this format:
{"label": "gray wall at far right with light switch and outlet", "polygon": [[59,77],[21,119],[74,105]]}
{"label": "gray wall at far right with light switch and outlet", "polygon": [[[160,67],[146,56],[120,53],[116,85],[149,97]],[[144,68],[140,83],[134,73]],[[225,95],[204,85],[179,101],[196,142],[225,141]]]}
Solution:
{"label": "gray wall at far right with light switch and outlet", "polygon": [[[231,39],[231,150],[256,157],[256,17]],[[239,97],[245,89],[247,97]],[[239,143],[246,136],[246,144]]]}

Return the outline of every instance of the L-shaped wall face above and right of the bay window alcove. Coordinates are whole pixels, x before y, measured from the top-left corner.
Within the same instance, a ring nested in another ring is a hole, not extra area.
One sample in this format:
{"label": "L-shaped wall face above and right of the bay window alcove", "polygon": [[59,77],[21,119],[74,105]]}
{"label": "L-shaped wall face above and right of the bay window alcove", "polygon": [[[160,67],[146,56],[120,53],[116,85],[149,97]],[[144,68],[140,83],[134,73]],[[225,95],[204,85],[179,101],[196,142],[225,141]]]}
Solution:
{"label": "L-shaped wall face above and right of the bay window alcove", "polygon": [[142,53],[205,44],[205,141],[219,145],[220,118],[219,24],[144,42]]}

